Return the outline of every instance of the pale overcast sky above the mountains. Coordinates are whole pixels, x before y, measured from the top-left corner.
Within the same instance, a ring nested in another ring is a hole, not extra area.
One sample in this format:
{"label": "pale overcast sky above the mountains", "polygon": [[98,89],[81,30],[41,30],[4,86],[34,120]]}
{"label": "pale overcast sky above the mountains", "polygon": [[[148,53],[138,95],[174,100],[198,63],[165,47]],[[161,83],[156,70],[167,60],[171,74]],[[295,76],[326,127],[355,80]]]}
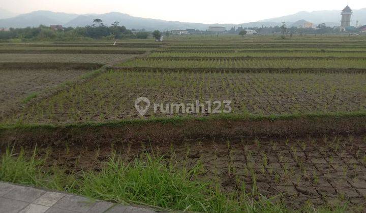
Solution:
{"label": "pale overcast sky above the mountains", "polygon": [[50,10],[66,13],[121,12],[144,18],[199,23],[242,23],[290,15],[299,11],[366,7],[365,0],[0,0],[0,8],[14,13]]}

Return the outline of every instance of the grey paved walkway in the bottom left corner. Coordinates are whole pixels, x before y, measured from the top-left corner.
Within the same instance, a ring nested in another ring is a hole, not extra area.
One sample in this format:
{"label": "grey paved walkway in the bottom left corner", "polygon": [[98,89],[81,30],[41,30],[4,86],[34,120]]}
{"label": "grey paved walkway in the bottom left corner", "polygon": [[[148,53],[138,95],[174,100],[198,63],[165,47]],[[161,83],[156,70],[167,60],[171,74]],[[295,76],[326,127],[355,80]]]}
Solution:
{"label": "grey paved walkway in the bottom left corner", "polygon": [[75,213],[75,212],[155,212],[151,209],[92,202],[89,199],[60,192],[0,182],[0,212]]}

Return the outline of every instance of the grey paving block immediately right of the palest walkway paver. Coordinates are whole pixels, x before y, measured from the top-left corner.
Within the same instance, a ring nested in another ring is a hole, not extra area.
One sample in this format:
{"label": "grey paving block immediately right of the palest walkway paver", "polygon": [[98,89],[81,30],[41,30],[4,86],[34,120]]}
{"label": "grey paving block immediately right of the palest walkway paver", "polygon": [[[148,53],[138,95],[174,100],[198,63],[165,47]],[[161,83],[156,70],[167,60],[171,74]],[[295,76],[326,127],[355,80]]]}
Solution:
{"label": "grey paving block immediately right of the palest walkway paver", "polygon": [[53,205],[53,207],[72,211],[87,212],[94,205],[95,202],[90,202],[90,200],[87,198],[76,195],[66,195],[62,199],[58,200]]}

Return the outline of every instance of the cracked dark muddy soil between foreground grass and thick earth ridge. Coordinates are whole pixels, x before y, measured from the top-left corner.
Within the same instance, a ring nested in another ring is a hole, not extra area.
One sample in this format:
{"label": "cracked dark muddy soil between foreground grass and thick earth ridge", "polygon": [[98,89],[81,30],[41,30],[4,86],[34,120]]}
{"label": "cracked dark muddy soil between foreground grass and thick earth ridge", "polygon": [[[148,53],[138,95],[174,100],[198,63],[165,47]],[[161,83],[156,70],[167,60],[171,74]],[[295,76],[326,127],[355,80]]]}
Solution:
{"label": "cracked dark muddy soil between foreground grass and thick earth ridge", "polygon": [[[27,148],[32,153],[32,148]],[[245,184],[266,197],[282,194],[287,205],[299,208],[349,203],[366,209],[366,135],[320,138],[184,140],[164,144],[124,141],[108,147],[68,145],[43,148],[51,153],[48,166],[67,171],[99,171],[117,151],[131,161],[144,152],[189,168],[202,163],[200,178],[218,181],[229,192]],[[254,185],[255,183],[255,185]]]}

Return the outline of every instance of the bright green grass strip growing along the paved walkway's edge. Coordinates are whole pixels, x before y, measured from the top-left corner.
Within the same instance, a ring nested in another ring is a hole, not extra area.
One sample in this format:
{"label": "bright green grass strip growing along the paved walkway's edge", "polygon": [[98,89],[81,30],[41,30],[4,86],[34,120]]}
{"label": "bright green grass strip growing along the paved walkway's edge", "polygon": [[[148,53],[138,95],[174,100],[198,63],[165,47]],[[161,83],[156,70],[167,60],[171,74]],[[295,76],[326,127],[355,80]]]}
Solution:
{"label": "bright green grass strip growing along the paved walkway's edge", "polygon": [[[46,167],[47,156],[38,157],[37,149],[30,157],[23,151],[6,149],[0,162],[0,181],[43,187],[81,194],[90,198],[121,204],[147,205],[163,211],[187,212],[294,212],[285,206],[281,194],[266,198],[245,185],[232,192],[223,192],[217,181],[201,181],[202,163],[192,168],[179,167],[171,159],[166,163],[154,154],[142,154],[131,162],[112,154],[100,171],[66,171]],[[343,212],[344,206],[315,208],[306,204],[298,212]]]}

